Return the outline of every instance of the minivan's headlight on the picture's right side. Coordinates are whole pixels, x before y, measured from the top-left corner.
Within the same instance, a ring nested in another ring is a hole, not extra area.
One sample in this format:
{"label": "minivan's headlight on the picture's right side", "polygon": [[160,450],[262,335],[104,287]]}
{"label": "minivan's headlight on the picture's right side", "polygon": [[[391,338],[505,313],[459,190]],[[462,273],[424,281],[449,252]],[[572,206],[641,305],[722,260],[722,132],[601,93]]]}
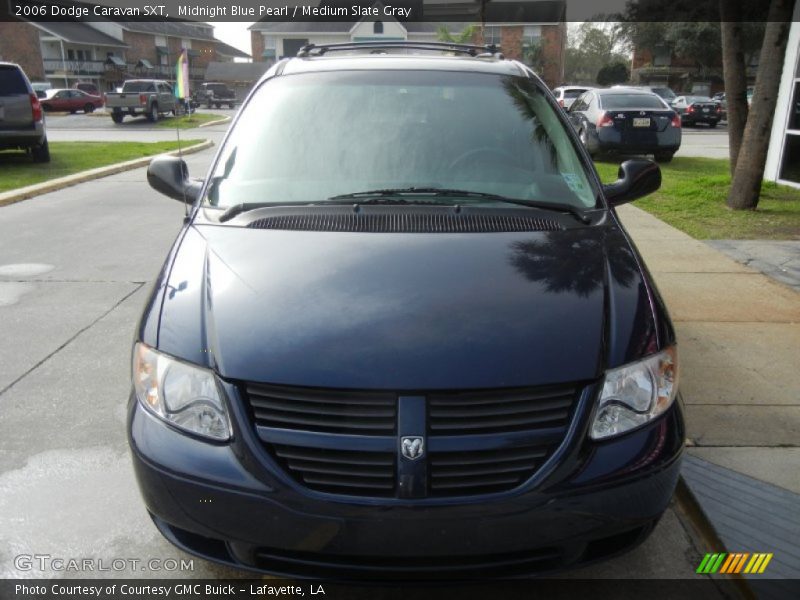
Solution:
{"label": "minivan's headlight on the picture's right side", "polygon": [[636,429],[667,410],[677,392],[678,354],[674,346],[606,371],[589,435],[601,440]]}

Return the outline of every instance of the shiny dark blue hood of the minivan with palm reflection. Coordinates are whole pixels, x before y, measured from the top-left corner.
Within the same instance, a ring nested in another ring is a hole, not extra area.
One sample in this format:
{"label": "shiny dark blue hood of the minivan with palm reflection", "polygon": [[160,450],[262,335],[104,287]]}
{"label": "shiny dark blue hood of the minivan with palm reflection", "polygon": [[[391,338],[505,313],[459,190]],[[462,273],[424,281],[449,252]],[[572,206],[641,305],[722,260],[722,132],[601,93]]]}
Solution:
{"label": "shiny dark blue hood of the minivan with palm reflection", "polygon": [[[192,226],[164,289],[158,347],[223,378],[311,387],[432,390],[594,379],[609,355],[625,360],[641,330],[633,321],[652,324],[633,252],[622,239],[621,253],[609,255],[607,230]],[[627,325],[616,323],[612,309],[627,315]],[[619,350],[607,347],[612,342]]]}

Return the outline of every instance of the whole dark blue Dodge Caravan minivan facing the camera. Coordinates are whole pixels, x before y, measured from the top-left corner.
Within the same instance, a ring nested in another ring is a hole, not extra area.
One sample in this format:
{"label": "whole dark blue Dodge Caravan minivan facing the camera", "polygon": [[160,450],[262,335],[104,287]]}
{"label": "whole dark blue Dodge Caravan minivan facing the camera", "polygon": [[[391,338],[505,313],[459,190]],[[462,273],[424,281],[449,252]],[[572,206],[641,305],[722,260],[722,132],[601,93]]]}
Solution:
{"label": "whole dark blue Dodge Caravan minivan facing the camera", "polygon": [[529,576],[653,530],[684,441],[675,333],[542,81],[493,47],[306,46],[244,101],[136,331],[155,526],[359,580]]}

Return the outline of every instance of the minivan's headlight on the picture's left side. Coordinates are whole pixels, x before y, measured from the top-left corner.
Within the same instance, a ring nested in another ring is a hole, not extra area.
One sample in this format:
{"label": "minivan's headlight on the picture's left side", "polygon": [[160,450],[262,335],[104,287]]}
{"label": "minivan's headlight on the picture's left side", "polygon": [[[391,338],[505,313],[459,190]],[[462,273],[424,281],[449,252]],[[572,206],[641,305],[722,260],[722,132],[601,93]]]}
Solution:
{"label": "minivan's headlight on the picture's left side", "polygon": [[213,440],[230,439],[230,420],[211,371],[136,344],[133,387],[142,406],[167,423]]}

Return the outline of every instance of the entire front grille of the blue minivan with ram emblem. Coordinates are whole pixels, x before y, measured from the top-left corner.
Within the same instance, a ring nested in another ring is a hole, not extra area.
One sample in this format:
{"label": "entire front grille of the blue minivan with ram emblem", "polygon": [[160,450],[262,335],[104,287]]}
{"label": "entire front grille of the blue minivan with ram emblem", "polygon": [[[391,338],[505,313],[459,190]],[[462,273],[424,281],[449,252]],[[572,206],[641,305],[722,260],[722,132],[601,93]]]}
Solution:
{"label": "entire front grille of the blue minivan with ram emblem", "polygon": [[[580,393],[575,385],[410,396],[256,383],[240,390],[264,447],[295,481],[390,498],[519,487],[563,441]],[[401,454],[404,436],[425,438],[421,459]]]}

